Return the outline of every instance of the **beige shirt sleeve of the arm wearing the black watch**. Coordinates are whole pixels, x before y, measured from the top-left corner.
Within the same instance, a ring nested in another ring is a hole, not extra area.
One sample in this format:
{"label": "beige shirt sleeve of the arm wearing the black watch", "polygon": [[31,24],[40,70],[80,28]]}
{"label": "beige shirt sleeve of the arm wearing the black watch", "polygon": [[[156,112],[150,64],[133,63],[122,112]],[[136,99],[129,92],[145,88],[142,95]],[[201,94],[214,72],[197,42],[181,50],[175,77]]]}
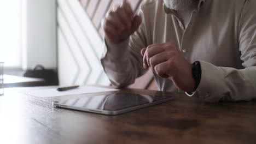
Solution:
{"label": "beige shirt sleeve of the arm wearing the black watch", "polygon": [[248,0],[238,25],[238,42],[245,69],[217,67],[200,61],[202,77],[193,94],[206,101],[216,102],[256,99],[256,1]]}

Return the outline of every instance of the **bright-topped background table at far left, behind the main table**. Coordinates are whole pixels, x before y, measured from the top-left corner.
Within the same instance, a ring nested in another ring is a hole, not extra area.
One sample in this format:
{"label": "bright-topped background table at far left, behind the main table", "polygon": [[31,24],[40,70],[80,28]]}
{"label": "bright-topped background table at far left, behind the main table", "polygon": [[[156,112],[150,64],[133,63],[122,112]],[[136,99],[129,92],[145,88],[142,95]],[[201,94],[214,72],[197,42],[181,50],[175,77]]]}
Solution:
{"label": "bright-topped background table at far left, behind the main table", "polygon": [[40,86],[44,82],[44,79],[15,75],[4,75],[4,87]]}

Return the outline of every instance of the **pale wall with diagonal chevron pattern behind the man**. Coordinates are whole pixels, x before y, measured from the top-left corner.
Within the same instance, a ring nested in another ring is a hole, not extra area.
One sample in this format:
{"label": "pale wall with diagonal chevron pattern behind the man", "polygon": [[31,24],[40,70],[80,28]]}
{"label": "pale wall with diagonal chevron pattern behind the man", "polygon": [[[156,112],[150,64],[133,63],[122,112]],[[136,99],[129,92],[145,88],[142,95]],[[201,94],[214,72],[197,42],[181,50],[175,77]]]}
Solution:
{"label": "pale wall with diagonal chevron pattern behind the man", "polygon": [[[127,0],[133,11],[141,0]],[[120,0],[57,1],[58,58],[61,85],[109,85],[100,59],[103,50],[101,20]],[[130,87],[156,89],[152,72],[136,80]]]}

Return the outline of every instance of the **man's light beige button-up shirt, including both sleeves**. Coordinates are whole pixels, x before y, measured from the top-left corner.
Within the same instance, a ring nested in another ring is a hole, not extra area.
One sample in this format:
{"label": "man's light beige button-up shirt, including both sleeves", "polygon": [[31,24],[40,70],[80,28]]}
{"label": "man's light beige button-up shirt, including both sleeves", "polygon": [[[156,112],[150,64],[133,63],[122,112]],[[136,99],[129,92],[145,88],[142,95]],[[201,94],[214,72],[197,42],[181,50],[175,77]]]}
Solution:
{"label": "man's light beige button-up shirt, including both sleeves", "polygon": [[[145,1],[138,30],[119,44],[104,43],[101,63],[113,85],[124,87],[147,71],[142,48],[171,41],[190,63],[201,63],[193,97],[212,102],[256,99],[255,5],[254,0],[200,0],[185,27],[180,11],[166,9],[162,1]],[[160,91],[179,92],[171,80],[154,77]]]}

